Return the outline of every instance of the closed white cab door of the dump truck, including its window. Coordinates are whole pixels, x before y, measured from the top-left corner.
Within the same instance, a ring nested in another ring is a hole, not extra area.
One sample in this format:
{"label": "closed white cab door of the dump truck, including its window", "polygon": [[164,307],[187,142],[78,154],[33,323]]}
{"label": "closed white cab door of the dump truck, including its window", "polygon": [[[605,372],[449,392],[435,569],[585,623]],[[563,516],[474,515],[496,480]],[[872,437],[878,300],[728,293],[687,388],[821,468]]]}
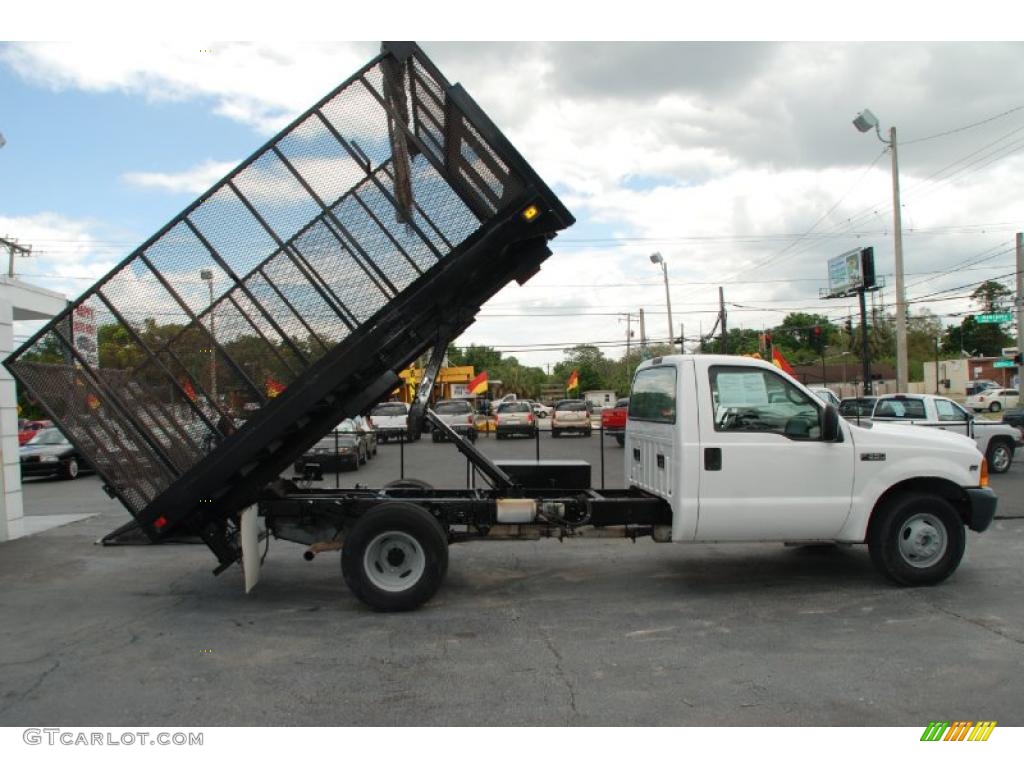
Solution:
{"label": "closed white cab door of the dump truck, including its window", "polygon": [[[761,368],[698,376],[701,541],[827,540],[850,511],[855,446],[821,440],[824,407]],[[707,406],[706,406],[707,403]]]}

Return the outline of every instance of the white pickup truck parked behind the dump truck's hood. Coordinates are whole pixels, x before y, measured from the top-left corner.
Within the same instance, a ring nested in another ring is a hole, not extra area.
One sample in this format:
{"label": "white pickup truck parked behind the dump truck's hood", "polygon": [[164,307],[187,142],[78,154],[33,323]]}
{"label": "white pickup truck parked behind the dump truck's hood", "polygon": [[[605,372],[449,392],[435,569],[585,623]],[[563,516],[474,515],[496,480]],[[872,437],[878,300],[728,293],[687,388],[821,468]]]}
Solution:
{"label": "white pickup truck parked behind the dump truck's hood", "polygon": [[914,424],[973,437],[995,474],[1010,469],[1021,439],[1020,430],[1009,424],[976,419],[959,403],[934,394],[890,394],[874,401],[872,422]]}

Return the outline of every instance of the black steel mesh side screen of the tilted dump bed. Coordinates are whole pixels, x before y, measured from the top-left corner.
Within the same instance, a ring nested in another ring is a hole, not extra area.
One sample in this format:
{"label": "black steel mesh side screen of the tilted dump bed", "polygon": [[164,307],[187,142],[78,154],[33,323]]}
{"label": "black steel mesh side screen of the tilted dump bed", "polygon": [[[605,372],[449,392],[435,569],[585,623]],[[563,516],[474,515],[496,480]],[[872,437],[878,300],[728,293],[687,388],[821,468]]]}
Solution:
{"label": "black steel mesh side screen of the tilted dump bed", "polygon": [[371,61],[7,360],[131,511],[521,187],[419,56]]}

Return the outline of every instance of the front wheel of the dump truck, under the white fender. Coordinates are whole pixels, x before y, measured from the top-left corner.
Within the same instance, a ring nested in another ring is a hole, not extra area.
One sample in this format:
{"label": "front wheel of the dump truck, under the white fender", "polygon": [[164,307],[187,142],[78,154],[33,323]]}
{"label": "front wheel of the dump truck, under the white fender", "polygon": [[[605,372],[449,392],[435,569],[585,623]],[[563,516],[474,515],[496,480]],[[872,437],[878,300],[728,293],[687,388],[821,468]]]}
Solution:
{"label": "front wheel of the dump truck, under the white fender", "polygon": [[890,499],[871,516],[867,547],[876,567],[907,587],[938,584],[956,570],[967,536],[952,504],[931,494]]}

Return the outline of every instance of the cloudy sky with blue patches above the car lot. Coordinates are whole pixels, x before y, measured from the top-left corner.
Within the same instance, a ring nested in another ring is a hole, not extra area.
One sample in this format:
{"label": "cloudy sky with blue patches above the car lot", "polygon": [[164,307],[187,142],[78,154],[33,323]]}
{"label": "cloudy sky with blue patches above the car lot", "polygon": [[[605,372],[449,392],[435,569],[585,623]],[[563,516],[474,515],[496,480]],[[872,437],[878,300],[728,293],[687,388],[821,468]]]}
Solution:
{"label": "cloudy sky with blue patches above the car lot", "polygon": [[[379,43],[0,46],[0,234],[26,280],[74,297],[371,58]],[[423,43],[558,193],[578,224],[460,343],[535,365],[626,314],[668,337],[762,328],[821,301],[826,260],[873,246],[894,300],[890,156],[899,132],[912,311],[958,322],[973,285],[1014,271],[1024,228],[1024,44]],[[1004,281],[1013,285],[1012,276]],[[19,328],[20,336],[29,327]],[[617,346],[616,346],[617,345]]]}

